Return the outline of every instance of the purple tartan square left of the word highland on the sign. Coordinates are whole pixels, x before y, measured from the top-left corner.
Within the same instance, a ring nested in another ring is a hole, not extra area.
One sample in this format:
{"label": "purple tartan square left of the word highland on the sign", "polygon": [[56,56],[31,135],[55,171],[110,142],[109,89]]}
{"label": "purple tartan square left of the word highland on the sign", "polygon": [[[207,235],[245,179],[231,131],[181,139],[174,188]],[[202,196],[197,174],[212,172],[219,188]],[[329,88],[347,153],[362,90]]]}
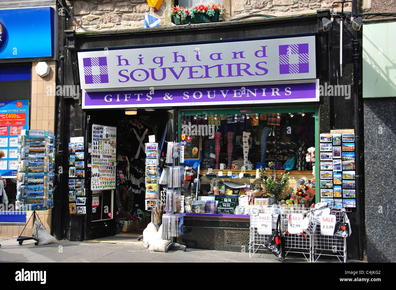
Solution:
{"label": "purple tartan square left of the word highland on the sign", "polygon": [[83,59],[85,83],[108,83],[106,57],[87,57]]}

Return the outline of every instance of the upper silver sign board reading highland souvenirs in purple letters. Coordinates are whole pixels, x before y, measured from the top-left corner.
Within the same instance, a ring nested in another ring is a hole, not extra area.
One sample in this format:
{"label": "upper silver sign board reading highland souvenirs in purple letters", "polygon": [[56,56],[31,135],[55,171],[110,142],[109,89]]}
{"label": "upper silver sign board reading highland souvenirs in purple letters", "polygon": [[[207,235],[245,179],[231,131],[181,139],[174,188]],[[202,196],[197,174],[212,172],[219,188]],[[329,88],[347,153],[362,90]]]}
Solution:
{"label": "upper silver sign board reading highland souvenirs in purple letters", "polygon": [[307,80],[315,62],[314,36],[78,53],[86,91]]}

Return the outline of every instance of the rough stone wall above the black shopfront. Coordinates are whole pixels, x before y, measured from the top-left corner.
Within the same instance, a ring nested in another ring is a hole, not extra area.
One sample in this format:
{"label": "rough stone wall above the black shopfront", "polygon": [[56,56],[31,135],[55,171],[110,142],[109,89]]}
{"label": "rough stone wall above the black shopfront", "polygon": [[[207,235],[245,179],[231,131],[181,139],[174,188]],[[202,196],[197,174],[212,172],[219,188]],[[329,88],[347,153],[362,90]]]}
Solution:
{"label": "rough stone wall above the black shopfront", "polygon": [[[284,16],[312,13],[317,9],[331,8],[331,2],[332,0],[223,0],[223,20],[252,14]],[[80,25],[89,30],[103,31],[143,27],[145,12],[162,19],[160,25],[170,25],[168,6],[173,6],[174,0],[164,0],[157,12],[150,11],[146,0],[70,0],[66,3]],[[204,3],[206,4],[205,1]],[[350,3],[346,3],[345,8],[351,10]],[[68,19],[68,29],[82,31],[70,17]]]}

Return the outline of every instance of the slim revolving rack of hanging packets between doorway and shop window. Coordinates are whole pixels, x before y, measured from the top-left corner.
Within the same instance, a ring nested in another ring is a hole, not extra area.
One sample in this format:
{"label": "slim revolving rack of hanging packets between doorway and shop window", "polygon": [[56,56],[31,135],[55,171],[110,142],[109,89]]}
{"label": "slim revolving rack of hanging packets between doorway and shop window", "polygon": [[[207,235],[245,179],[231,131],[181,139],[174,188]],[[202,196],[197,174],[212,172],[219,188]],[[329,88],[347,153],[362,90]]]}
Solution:
{"label": "slim revolving rack of hanging packets between doorway and shop window", "polygon": [[[171,214],[164,214],[162,216],[162,239],[171,239],[171,243],[166,247],[165,252],[173,247],[187,250],[185,243],[177,242],[177,237],[183,235],[183,215],[178,212],[181,210],[181,191],[184,186],[184,168],[175,166],[177,158],[180,158],[181,144],[175,142],[168,142],[166,167],[168,167],[168,178],[166,185],[166,209],[170,210]],[[171,200],[170,200],[171,199]]]}

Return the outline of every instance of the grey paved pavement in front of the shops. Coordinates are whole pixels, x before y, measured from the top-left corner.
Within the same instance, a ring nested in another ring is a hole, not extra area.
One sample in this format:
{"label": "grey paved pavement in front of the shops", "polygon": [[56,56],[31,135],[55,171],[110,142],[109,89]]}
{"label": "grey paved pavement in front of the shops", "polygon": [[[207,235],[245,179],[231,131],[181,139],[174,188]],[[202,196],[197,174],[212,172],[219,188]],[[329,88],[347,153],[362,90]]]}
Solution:
{"label": "grey paved pavement in front of the shops", "polygon": [[[226,252],[188,248],[183,252],[173,248],[168,253],[150,252],[142,242],[74,242],[56,241],[49,245],[34,245],[33,240],[19,245],[15,238],[0,237],[0,262],[10,263],[111,263],[111,262],[148,262],[148,263],[280,263],[271,254],[254,254],[249,258],[247,252]],[[307,262],[304,258],[286,258],[285,262]]]}

